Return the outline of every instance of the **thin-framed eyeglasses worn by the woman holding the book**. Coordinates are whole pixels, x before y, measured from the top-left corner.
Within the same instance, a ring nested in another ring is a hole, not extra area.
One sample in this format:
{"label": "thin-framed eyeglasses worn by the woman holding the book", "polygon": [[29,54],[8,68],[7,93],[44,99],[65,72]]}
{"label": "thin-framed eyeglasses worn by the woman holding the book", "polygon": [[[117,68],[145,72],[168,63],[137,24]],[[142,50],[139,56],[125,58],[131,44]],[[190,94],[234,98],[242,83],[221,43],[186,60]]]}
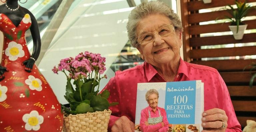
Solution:
{"label": "thin-framed eyeglasses worn by the woman holding the book", "polygon": [[173,24],[164,25],[155,33],[144,33],[137,37],[137,43],[139,45],[146,45],[154,39],[154,35],[157,33],[160,37],[165,37],[175,32]]}

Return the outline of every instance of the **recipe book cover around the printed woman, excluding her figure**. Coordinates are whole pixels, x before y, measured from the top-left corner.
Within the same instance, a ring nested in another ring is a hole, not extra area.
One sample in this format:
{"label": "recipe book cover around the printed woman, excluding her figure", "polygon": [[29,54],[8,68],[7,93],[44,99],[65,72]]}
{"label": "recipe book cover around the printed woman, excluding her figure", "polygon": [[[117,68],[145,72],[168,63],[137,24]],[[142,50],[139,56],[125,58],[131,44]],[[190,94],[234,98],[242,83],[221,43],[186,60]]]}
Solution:
{"label": "recipe book cover around the printed woman, excluding her figure", "polygon": [[141,110],[148,107],[145,94],[150,89],[159,93],[158,107],[164,108],[169,132],[200,132],[204,111],[204,86],[201,80],[138,83],[135,131],[140,131]]}

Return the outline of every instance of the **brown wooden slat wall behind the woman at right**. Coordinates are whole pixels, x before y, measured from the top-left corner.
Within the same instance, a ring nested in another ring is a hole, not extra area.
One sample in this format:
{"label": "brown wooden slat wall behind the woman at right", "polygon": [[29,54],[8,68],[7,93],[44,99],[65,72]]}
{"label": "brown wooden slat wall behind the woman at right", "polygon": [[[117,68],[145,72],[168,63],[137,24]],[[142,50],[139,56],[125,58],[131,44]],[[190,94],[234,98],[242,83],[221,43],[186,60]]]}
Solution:
{"label": "brown wooden slat wall behind the woman at right", "polygon": [[[207,13],[198,13],[200,9],[223,7],[234,5],[235,0],[212,0],[204,4],[202,0],[181,0],[181,19],[184,28],[183,52],[184,60],[190,63],[207,65],[216,68],[225,81],[237,118],[242,125],[246,126],[246,120],[256,120],[256,86],[250,88],[249,80],[252,76],[250,67],[246,67],[256,59],[243,59],[246,55],[256,55],[256,46],[228,47],[215,49],[201,49],[205,45],[222,45],[236,43],[256,42],[256,33],[244,34],[243,39],[235,40],[233,35],[200,37],[201,33],[218,33],[230,31],[230,23],[199,25],[200,22],[215,21],[230,16],[226,11],[215,10]],[[245,0],[240,0],[244,2]],[[247,3],[256,0],[247,0]],[[256,10],[252,10],[248,16],[255,16]],[[256,19],[244,21],[248,24],[247,30],[256,29]],[[208,60],[205,57],[228,57],[240,59]],[[245,68],[246,67],[246,68]],[[245,68],[245,69],[244,69]],[[243,70],[244,69],[244,70]],[[256,71],[253,71],[255,73]],[[256,82],[256,79],[255,79]]]}

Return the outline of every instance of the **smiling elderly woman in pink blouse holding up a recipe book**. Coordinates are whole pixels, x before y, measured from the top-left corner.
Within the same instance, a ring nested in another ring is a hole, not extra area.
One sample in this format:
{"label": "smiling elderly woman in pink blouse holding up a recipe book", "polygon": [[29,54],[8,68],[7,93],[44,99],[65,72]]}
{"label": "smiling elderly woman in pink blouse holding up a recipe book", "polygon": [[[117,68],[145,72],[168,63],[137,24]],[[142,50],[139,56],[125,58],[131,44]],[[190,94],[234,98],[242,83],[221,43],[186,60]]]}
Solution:
{"label": "smiling elderly woman in pink blouse holding up a recipe book", "polygon": [[111,93],[110,102],[119,102],[111,107],[112,132],[134,131],[137,83],[189,80],[204,83],[203,132],[242,132],[227,86],[218,71],[180,58],[183,28],[169,6],[159,1],[143,3],[131,11],[128,19],[129,39],[145,62],[117,71],[104,88]]}

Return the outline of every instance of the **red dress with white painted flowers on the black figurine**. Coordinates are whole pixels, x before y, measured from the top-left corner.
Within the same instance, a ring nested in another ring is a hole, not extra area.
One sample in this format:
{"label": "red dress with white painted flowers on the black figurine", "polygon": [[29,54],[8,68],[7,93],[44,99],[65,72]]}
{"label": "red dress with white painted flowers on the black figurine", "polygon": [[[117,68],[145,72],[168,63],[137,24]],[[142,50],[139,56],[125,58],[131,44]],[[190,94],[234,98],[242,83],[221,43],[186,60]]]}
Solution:
{"label": "red dress with white painted flowers on the black figurine", "polygon": [[16,27],[0,14],[0,30],[4,34],[1,66],[5,79],[0,81],[0,132],[61,132],[61,106],[36,65],[28,73],[23,61],[30,58],[25,32],[31,26],[26,14]]}

